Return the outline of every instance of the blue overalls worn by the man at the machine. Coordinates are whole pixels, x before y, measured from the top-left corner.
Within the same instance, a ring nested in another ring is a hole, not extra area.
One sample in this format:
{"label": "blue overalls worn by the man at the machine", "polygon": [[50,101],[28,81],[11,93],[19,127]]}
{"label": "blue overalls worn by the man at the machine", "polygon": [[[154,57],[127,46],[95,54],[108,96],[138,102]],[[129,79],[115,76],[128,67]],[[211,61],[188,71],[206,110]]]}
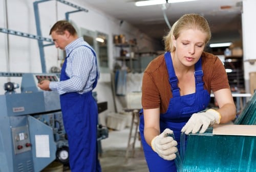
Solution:
{"label": "blue overalls worn by the man at the machine", "polygon": [[[89,46],[86,47],[90,48]],[[96,58],[95,52],[92,49],[91,51]],[[69,55],[61,68],[60,81],[70,79],[65,71],[68,58]],[[93,88],[97,84],[97,78],[98,74]],[[100,172],[101,167],[97,151],[98,108],[92,91],[83,94],[77,92],[61,94],[60,105],[65,130],[68,134],[71,171]]]}

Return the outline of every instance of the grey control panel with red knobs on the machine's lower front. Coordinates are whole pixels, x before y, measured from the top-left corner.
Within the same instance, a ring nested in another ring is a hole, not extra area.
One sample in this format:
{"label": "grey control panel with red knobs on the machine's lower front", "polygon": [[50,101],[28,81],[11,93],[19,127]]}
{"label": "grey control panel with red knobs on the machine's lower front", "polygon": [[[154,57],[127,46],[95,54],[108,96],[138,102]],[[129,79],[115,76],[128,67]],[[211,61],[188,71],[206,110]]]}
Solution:
{"label": "grey control panel with red knobs on the machine's lower front", "polygon": [[31,150],[28,126],[12,128],[12,137],[15,155]]}

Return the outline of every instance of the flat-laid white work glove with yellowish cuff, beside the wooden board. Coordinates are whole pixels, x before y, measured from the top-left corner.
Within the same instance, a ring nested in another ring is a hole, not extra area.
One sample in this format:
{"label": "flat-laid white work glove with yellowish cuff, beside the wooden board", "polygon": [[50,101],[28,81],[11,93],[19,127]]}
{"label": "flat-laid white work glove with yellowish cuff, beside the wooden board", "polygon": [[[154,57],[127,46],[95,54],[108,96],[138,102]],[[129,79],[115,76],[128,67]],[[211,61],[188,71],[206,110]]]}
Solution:
{"label": "flat-laid white work glove with yellowish cuff, beside the wooden board", "polygon": [[194,113],[189,118],[186,125],[181,129],[181,132],[185,132],[185,134],[189,134],[190,132],[197,133],[202,127],[199,133],[204,133],[209,126],[220,124],[220,120],[221,114],[214,109],[208,109],[206,112]]}

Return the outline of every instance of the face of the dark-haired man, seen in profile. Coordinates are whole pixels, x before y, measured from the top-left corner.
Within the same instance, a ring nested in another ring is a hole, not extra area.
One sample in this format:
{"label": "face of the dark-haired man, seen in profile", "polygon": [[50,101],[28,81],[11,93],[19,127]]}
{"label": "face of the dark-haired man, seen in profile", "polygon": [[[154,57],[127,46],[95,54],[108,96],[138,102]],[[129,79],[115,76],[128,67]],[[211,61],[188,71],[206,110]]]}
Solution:
{"label": "face of the dark-haired man, seen in profile", "polygon": [[65,50],[65,47],[69,44],[68,43],[68,35],[67,31],[64,34],[60,35],[57,34],[55,31],[51,33],[52,39],[54,41],[55,47],[60,48],[61,50]]}

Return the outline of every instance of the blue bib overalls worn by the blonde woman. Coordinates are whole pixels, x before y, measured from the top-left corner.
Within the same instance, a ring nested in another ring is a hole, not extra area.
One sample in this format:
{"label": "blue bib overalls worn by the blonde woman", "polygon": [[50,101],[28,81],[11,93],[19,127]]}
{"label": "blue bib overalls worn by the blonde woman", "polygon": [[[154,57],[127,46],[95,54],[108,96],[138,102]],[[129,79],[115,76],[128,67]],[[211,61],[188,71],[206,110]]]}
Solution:
{"label": "blue bib overalls worn by the blonde woman", "polygon": [[[193,113],[205,109],[210,101],[210,95],[207,90],[204,90],[202,62],[200,60],[195,64],[195,80],[196,92],[180,96],[178,87],[178,78],[176,77],[172,57],[170,52],[164,54],[164,59],[168,71],[169,83],[173,97],[169,101],[167,111],[160,114],[160,133],[164,129],[169,128],[174,131],[175,139],[178,142],[178,149],[180,150],[180,134],[182,127],[186,124]],[[162,159],[155,153],[151,146],[148,145],[144,138],[144,117],[143,109],[140,111],[140,135],[143,145],[143,151],[150,172],[176,172],[175,161],[168,161]]]}

